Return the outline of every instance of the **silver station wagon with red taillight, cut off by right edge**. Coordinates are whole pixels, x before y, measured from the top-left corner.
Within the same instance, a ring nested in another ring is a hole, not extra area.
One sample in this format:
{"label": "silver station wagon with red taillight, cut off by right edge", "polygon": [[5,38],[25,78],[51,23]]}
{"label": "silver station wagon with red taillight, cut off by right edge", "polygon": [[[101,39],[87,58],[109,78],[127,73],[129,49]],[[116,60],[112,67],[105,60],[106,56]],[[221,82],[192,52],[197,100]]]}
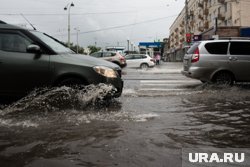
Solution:
{"label": "silver station wagon with red taillight, cut off by right edge", "polygon": [[250,81],[250,40],[224,39],[194,43],[184,56],[187,77],[233,84]]}

